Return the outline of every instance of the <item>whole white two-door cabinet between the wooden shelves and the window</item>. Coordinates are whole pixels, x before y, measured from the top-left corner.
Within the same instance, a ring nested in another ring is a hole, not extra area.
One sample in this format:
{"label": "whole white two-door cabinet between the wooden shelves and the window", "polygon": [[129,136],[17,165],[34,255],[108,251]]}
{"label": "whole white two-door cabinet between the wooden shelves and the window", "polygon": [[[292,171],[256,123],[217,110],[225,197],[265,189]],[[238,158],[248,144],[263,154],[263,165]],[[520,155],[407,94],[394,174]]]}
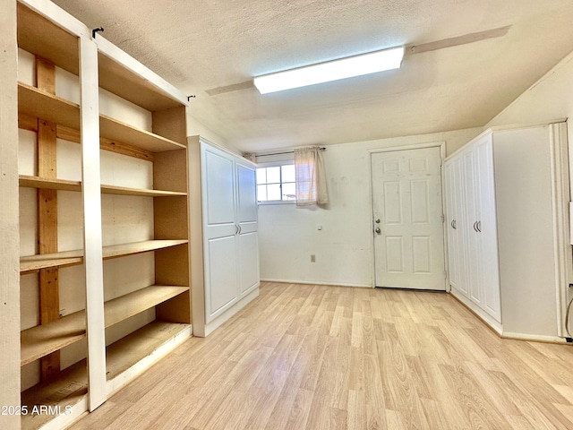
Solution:
{"label": "whole white two-door cabinet between the wooden shelves and the window", "polygon": [[207,336],[258,295],[255,165],[190,137],[193,334]]}

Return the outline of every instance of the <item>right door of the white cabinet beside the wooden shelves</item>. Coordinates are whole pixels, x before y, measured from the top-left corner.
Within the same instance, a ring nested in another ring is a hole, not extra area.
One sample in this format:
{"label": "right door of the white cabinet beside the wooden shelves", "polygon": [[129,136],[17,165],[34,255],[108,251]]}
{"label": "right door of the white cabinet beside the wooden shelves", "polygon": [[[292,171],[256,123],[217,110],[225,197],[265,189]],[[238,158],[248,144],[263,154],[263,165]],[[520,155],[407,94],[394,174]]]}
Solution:
{"label": "right door of the white cabinet beside the wooden shelves", "polygon": [[237,183],[237,224],[239,258],[239,296],[259,285],[259,235],[256,193],[256,169],[241,160],[235,161]]}

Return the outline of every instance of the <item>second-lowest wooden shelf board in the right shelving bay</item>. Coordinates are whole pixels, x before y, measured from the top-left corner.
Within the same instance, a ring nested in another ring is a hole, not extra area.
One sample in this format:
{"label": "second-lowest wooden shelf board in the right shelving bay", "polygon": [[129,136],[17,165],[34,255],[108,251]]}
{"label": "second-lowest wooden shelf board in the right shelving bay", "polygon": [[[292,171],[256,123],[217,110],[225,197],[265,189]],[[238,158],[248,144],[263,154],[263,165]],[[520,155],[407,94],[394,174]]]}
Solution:
{"label": "second-lowest wooden shelf board in the right shelving bay", "polygon": [[105,305],[106,327],[120,323],[185,291],[189,291],[189,287],[153,285],[109,300]]}

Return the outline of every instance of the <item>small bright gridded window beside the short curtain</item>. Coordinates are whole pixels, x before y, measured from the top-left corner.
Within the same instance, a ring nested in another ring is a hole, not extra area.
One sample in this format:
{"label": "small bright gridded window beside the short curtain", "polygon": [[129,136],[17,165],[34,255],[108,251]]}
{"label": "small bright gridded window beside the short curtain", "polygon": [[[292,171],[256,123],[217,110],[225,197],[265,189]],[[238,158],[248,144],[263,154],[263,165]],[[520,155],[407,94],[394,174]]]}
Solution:
{"label": "small bright gridded window beside the short curtain", "polygon": [[295,165],[257,168],[259,202],[295,202]]}

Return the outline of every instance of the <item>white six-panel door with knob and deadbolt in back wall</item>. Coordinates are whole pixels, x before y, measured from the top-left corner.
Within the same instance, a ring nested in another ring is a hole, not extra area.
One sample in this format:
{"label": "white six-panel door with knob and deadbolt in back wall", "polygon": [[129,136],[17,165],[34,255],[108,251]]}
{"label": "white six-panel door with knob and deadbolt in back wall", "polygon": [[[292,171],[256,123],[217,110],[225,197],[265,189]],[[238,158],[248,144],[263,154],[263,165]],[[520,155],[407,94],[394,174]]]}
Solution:
{"label": "white six-panel door with knob and deadbolt in back wall", "polygon": [[376,286],[445,290],[440,148],[371,163]]}

